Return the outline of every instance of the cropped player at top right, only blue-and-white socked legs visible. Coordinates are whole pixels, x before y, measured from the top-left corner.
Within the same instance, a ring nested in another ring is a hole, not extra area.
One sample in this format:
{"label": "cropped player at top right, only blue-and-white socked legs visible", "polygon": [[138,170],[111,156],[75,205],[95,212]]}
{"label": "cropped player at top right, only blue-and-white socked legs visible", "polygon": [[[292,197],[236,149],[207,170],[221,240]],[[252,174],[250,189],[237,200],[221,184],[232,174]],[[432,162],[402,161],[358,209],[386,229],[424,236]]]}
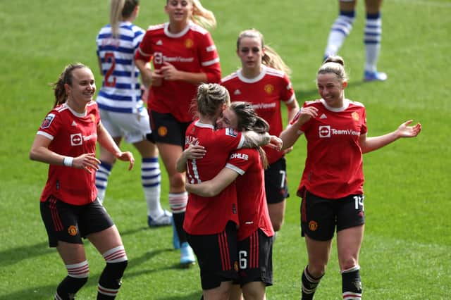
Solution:
{"label": "cropped player at top right, only blue-and-white socked legs visible", "polygon": [[[355,20],[355,7],[357,0],[339,0],[340,14],[335,19],[330,28],[328,42],[324,58],[338,54],[343,42],[352,30],[352,24]],[[379,53],[381,52],[382,39],[382,0],[365,0],[366,25],[364,32],[365,44],[365,81],[384,81],[387,80],[387,74],[378,72],[377,63]]]}

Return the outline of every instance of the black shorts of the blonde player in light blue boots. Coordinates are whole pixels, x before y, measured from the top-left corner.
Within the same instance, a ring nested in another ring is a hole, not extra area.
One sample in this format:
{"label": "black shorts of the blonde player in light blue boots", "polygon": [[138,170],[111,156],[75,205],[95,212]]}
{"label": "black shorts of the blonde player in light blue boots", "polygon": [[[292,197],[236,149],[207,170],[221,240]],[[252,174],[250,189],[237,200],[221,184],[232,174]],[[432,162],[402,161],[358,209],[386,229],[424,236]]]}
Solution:
{"label": "black shorts of the blonde player in light blue boots", "polygon": [[152,141],[180,145],[185,148],[185,132],[191,122],[183,123],[175,120],[171,113],[149,111]]}

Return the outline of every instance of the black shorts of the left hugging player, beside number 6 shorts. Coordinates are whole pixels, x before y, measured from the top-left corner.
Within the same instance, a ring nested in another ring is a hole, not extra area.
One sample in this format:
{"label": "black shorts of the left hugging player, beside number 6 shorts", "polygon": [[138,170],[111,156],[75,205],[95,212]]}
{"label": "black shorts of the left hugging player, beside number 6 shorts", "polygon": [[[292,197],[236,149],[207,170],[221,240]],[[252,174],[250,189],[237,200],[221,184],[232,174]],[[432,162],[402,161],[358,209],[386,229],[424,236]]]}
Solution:
{"label": "black shorts of the left hugging player, beside number 6 shorts", "polygon": [[229,222],[215,235],[189,235],[188,243],[199,263],[202,289],[214,289],[221,282],[238,279],[237,228]]}

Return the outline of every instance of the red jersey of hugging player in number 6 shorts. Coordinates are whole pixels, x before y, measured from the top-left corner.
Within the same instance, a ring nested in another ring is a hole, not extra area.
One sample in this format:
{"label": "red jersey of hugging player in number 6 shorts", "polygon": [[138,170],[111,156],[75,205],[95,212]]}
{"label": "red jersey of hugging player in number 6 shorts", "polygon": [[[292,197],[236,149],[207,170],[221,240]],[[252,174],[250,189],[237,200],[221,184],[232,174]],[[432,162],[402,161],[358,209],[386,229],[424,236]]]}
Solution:
{"label": "red jersey of hugging player in number 6 shorts", "polygon": [[268,237],[274,235],[266,203],[264,168],[257,149],[240,149],[230,154],[226,168],[235,170],[240,227],[238,240],[246,239],[260,228]]}

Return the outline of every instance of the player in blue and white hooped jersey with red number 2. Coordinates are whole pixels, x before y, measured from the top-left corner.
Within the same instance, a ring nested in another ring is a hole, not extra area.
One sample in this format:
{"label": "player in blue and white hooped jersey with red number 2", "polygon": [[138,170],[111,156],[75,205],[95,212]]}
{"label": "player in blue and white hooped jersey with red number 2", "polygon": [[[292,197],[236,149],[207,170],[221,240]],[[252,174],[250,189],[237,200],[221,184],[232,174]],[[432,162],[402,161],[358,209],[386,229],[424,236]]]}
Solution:
{"label": "player in blue and white hooped jersey with red number 2", "polygon": [[[101,122],[116,144],[132,143],[142,157],[141,181],[147,202],[149,227],[171,225],[172,213],[161,208],[161,171],[158,150],[147,140],[151,135],[149,115],[141,99],[139,70],[134,61],[144,30],[133,25],[140,9],[138,0],[111,0],[110,24],[97,35],[97,57],[104,80],[97,95]],[[100,147],[96,173],[99,200],[103,201],[116,158]]]}

